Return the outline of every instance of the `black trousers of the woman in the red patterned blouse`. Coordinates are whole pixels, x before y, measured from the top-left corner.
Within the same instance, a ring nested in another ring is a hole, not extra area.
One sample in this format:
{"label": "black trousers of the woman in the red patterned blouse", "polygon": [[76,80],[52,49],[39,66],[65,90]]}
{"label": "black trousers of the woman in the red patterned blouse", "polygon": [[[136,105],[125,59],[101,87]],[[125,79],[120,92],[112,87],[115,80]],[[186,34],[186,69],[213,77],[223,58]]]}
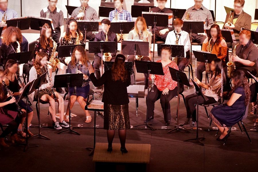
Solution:
{"label": "black trousers of the woman in the red patterned blouse", "polygon": [[[151,90],[149,92],[148,117],[154,116],[155,102],[158,99],[160,99],[160,104],[164,115],[164,121],[171,120],[169,101],[177,95],[177,87],[175,87],[175,89],[173,90],[169,90],[169,93],[167,95],[163,95],[162,91],[159,91],[156,85],[154,85],[153,89],[154,89],[154,92],[151,92]],[[148,102],[148,99],[146,97],[146,105],[147,105],[147,102]]]}

